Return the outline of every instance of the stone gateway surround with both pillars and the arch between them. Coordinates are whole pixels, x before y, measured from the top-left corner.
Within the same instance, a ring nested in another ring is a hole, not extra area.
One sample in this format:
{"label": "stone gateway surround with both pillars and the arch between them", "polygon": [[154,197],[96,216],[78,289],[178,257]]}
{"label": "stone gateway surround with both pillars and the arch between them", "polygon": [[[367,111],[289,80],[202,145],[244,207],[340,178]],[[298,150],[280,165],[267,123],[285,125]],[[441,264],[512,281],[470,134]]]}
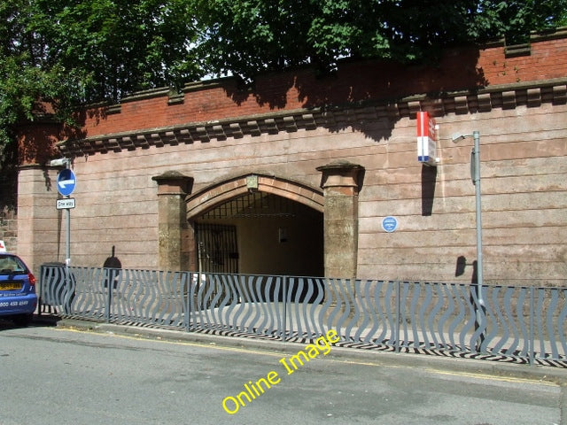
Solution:
{"label": "stone gateway surround with both pillars and the arch between them", "polygon": [[[304,237],[302,239],[304,242],[315,239],[321,241],[321,245],[311,249],[310,252],[322,252],[324,267],[321,270],[303,273],[300,270],[298,271],[297,268],[291,267],[299,264],[299,262],[297,264],[291,262],[291,256],[277,257],[272,255],[270,259],[284,258],[287,262],[270,266],[275,267],[274,270],[252,270],[252,268],[258,267],[251,267],[251,270],[246,270],[248,267],[239,267],[238,273],[316,274],[327,277],[354,278],[357,272],[358,256],[358,194],[364,179],[364,167],[340,160],[325,166],[318,166],[316,169],[322,174],[322,191],[313,189],[304,183],[293,182],[273,175],[245,174],[192,193],[193,178],[190,176],[177,171],[168,171],[152,177],[158,183],[159,267],[164,270],[197,270],[198,250],[196,250],[195,243],[195,223],[198,224],[199,220],[206,220],[207,224],[214,224],[214,220],[221,220],[221,218],[206,217],[207,213],[241,197],[260,193],[262,194],[261,197],[272,197],[268,199],[268,205],[270,205],[270,202],[272,202],[271,205],[274,205],[273,203],[281,205],[283,199],[288,204],[300,205],[303,208],[303,212],[297,213],[296,216],[302,218],[308,217],[310,214],[317,216],[314,221],[304,225],[304,228],[309,230],[313,228],[322,229],[322,236],[308,235],[306,239],[305,232],[299,232],[299,236]],[[273,199],[276,199],[276,201]],[[284,240],[289,241],[290,229],[279,226],[279,224],[281,222],[278,222],[276,228],[277,236],[269,236],[266,233],[261,237],[266,237],[267,240],[272,241],[277,237],[277,240],[282,241],[282,243],[284,243]],[[297,227],[292,228],[292,230],[297,230]],[[274,228],[269,228],[268,232],[276,233]],[[276,246],[305,248],[308,245],[305,243],[293,245],[284,243],[284,245]],[[271,248],[273,246],[258,252],[270,252]],[[258,250],[258,247],[256,249]],[[299,257],[297,250],[292,252],[294,255],[298,255],[296,258],[305,258]],[[239,250],[233,252],[233,254],[239,260],[241,259]],[[240,261],[240,264],[242,264],[242,261]],[[281,272],[276,269],[281,270]]]}

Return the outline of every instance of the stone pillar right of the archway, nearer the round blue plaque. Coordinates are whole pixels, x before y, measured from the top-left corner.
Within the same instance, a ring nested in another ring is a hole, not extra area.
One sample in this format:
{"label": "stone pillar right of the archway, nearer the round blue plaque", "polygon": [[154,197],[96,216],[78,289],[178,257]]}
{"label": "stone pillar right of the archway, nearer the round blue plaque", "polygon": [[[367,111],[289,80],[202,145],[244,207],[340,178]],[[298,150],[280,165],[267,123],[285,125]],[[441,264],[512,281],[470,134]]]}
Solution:
{"label": "stone pillar right of the archway, nearer the round blue plaque", "polygon": [[358,192],[364,167],[347,161],[317,167],[322,173],[325,276],[353,279],[357,274]]}

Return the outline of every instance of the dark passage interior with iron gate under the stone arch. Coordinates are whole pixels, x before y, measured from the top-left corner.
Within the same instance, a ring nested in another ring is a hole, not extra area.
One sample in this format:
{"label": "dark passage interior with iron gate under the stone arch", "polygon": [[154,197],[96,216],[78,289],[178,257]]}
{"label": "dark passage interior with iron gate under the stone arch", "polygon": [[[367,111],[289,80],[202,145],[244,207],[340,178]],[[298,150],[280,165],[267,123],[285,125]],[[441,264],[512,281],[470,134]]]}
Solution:
{"label": "dark passage interior with iron gate under the stone arch", "polygon": [[322,276],[322,213],[291,199],[248,192],[195,221],[204,272]]}

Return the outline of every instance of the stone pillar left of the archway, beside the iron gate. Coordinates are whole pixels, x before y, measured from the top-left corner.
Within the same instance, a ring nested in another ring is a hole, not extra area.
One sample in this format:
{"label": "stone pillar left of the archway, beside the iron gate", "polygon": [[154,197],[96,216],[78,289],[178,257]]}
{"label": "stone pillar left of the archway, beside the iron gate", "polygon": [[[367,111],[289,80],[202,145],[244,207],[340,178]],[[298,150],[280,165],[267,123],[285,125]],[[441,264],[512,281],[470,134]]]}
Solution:
{"label": "stone pillar left of the archway, beside the iron gate", "polygon": [[189,270],[192,233],[187,222],[185,197],[193,178],[167,171],[151,180],[158,183],[158,232],[160,270]]}

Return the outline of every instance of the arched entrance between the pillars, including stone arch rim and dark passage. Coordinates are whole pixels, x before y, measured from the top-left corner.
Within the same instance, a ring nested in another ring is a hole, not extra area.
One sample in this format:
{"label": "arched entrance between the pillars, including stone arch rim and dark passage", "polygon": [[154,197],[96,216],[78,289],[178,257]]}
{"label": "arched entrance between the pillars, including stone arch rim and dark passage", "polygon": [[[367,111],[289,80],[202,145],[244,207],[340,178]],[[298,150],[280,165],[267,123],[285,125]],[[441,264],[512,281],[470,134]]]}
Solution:
{"label": "arched entrance between the pillars, including stone arch rim and dark passage", "polygon": [[265,174],[219,182],[186,198],[198,268],[321,276],[323,195]]}

